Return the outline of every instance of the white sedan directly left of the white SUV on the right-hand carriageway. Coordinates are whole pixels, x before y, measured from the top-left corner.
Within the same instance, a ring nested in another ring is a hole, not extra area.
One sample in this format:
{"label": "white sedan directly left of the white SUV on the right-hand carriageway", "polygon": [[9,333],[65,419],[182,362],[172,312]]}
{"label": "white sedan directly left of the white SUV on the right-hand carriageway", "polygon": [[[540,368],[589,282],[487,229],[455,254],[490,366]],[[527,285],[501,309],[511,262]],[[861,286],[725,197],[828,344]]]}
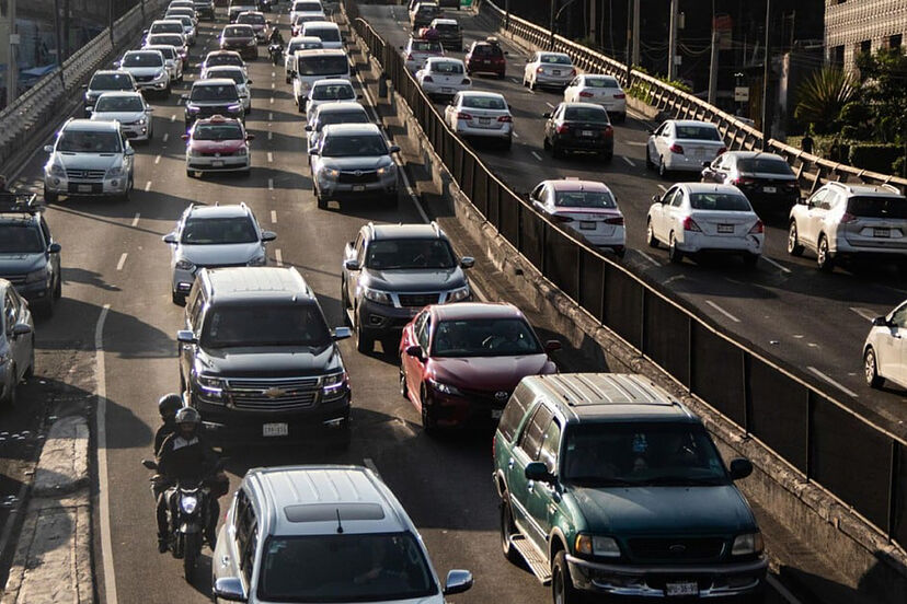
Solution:
{"label": "white sedan directly left of the white SUV on the right-hand carriageway", "polygon": [[700,252],[739,254],[747,266],[759,260],[765,228],[737,187],[679,183],[652,201],[646,241],[652,247],[667,245],[670,262]]}

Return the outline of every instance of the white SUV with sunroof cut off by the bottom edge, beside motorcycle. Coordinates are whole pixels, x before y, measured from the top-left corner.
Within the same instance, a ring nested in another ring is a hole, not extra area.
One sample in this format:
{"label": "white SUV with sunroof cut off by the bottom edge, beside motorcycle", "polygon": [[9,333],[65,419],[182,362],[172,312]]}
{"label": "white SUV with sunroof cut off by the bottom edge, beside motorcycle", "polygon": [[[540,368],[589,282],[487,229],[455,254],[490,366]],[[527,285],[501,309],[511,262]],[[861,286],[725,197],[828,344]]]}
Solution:
{"label": "white SUV with sunroof cut off by the bottom edge, beside motorcycle", "polygon": [[472,586],[464,570],[440,586],[406,511],[359,466],[249,471],[213,559],[215,602],[444,604]]}

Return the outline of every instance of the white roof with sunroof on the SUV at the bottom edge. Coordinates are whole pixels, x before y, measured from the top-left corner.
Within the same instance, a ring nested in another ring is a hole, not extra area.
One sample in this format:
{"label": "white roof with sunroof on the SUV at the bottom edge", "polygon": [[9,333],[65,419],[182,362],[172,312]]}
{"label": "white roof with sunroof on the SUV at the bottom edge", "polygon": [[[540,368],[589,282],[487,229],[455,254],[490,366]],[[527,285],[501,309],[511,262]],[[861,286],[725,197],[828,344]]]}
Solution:
{"label": "white roof with sunroof on the SUV at the bottom edge", "polygon": [[345,534],[411,530],[388,487],[365,467],[261,467],[243,480],[267,509],[271,535],[335,535],[338,522]]}

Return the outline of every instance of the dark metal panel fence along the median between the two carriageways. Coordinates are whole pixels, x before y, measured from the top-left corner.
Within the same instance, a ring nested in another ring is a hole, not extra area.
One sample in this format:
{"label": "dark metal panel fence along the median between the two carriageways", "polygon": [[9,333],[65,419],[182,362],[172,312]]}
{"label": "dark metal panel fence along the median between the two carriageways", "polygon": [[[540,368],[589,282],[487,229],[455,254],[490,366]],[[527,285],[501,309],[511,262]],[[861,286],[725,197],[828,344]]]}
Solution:
{"label": "dark metal panel fence along the median between the two carriageways", "polygon": [[907,545],[907,441],[860,417],[669,290],[549,221],[450,130],[403,57],[344,0],[351,27],[474,209],[565,295],[804,479]]}

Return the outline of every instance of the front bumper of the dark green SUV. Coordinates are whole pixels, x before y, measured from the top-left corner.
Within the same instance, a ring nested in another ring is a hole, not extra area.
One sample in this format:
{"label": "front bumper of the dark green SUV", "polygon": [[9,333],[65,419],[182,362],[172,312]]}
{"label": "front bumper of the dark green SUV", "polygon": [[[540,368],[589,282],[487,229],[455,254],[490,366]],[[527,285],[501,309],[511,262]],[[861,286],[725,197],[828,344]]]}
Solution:
{"label": "front bumper of the dark green SUV", "polygon": [[666,599],[666,583],[696,580],[698,597],[728,599],[765,590],[765,558],[725,565],[677,565],[670,567],[607,565],[567,556],[570,576],[577,590],[613,596]]}

